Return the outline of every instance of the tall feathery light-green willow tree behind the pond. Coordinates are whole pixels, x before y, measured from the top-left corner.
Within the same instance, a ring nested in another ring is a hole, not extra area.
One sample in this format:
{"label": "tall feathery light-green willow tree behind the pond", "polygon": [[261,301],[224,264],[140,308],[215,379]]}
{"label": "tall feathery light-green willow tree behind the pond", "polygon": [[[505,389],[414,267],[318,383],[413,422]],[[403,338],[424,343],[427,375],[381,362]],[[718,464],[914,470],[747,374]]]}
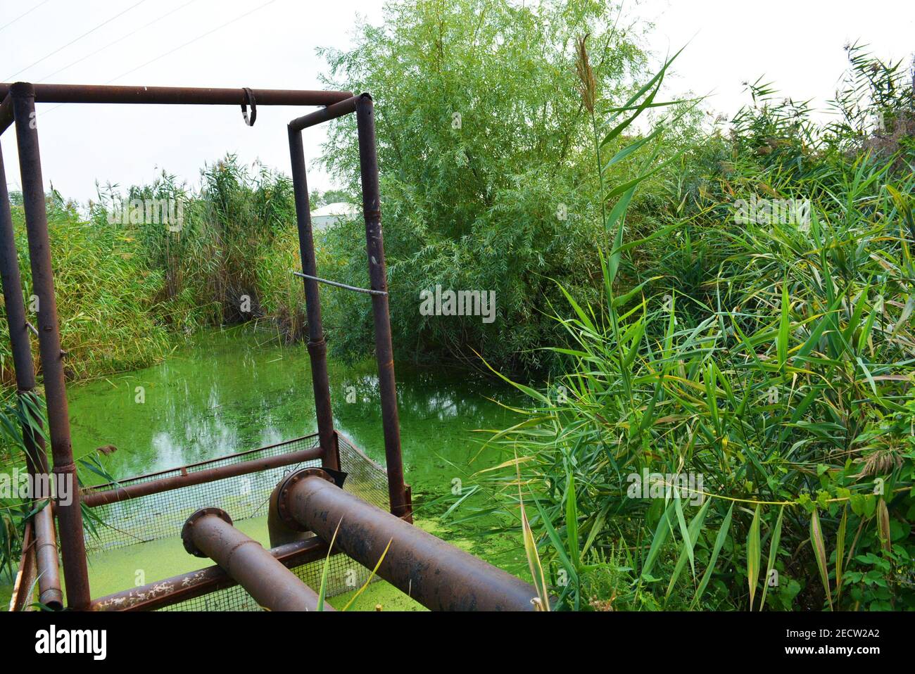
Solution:
{"label": "tall feathery light-green willow tree behind the pond", "polygon": [[[376,101],[402,358],[474,358],[474,349],[507,369],[544,368],[552,355],[539,348],[561,337],[546,314],[561,301],[551,279],[595,296],[591,251],[603,232],[575,46],[591,33],[598,94],[619,98],[645,59],[629,30],[610,25],[615,16],[596,0],[409,0],[386,5],[382,27],[361,25],[353,48],[323,52],[329,86],[371,91]],[[358,193],[354,123],[331,127],[325,161]],[[335,279],[365,284],[365,252],[353,245],[362,228],[351,222],[328,233]],[[495,322],[421,316],[419,295],[436,285],[495,291]],[[338,354],[371,345],[364,298],[331,294],[328,316]]]}

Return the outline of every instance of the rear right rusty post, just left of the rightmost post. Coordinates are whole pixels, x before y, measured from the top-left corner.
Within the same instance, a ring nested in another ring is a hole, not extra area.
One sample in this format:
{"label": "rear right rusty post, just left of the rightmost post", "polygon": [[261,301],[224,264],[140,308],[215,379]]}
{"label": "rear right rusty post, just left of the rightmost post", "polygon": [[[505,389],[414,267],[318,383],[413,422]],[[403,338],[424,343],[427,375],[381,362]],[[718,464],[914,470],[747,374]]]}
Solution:
{"label": "rear right rusty post, just left of the rightmost post", "polygon": [[[305,150],[302,132],[289,127],[289,156],[292,161],[292,183],[296,194],[296,223],[298,250],[302,258],[302,273],[318,275],[315,261],[315,241],[311,230],[311,205],[308,202],[308,182],[305,172]],[[315,414],[318,417],[318,442],[324,450],[321,465],[339,470],[339,445],[334,433],[334,417],[330,409],[328,380],[328,345],[321,324],[321,299],[318,282],[305,281],[305,305],[308,320],[308,358],[311,361],[311,384],[315,390]]]}

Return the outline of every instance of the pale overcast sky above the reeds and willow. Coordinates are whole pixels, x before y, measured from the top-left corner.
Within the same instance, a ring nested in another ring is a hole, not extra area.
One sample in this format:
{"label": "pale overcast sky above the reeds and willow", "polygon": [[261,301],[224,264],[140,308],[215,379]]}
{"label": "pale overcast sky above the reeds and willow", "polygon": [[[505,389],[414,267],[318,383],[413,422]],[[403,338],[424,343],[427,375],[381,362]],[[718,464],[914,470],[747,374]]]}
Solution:
{"label": "pale overcast sky above the reeds and willow", "polygon": [[[655,24],[648,46],[659,55],[692,40],[673,89],[712,93],[707,105],[728,116],[746,101],[742,82],[760,75],[824,108],[845,69],[846,42],[860,38],[894,59],[915,50],[912,0],[627,7]],[[380,23],[382,0],[0,0],[0,81],[318,89],[326,64],[315,48],[349,45],[357,14]],[[239,109],[225,106],[39,105],[46,185],[84,202],[96,179],[125,187],[162,168],[194,184],[203,163],[226,152],[288,171],[285,123],[302,113],[264,107],[248,128]],[[305,138],[307,159],[317,157],[320,130]],[[12,130],[2,144],[7,183],[18,189]],[[310,165],[310,187],[334,187]]]}

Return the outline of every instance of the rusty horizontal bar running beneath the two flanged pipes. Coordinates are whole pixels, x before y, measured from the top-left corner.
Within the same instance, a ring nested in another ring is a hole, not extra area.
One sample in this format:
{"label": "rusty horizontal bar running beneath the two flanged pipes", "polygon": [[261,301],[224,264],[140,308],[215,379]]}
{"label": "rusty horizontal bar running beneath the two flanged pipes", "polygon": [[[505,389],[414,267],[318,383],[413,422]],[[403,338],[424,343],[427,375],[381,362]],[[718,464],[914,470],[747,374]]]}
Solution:
{"label": "rusty horizontal bar running beneath the two flanged pipes", "polygon": [[[316,537],[280,545],[271,548],[269,552],[285,567],[292,569],[325,559],[328,556],[328,544]],[[339,551],[331,554],[339,554]],[[237,584],[219,566],[208,566],[140,587],[106,594],[93,599],[91,605],[92,611],[154,611]]]}

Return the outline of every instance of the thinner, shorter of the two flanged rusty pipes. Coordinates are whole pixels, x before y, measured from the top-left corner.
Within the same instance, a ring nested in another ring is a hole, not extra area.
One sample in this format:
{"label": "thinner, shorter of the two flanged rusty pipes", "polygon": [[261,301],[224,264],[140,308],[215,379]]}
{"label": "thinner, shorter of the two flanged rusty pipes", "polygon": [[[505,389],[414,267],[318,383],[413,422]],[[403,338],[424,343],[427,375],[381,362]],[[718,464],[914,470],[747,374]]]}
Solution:
{"label": "thinner, shorter of the two flanged rusty pipes", "polygon": [[[209,557],[271,611],[317,611],[318,594],[259,542],[235,529],[220,508],[203,508],[181,530],[185,550]],[[324,610],[332,611],[329,604]]]}

